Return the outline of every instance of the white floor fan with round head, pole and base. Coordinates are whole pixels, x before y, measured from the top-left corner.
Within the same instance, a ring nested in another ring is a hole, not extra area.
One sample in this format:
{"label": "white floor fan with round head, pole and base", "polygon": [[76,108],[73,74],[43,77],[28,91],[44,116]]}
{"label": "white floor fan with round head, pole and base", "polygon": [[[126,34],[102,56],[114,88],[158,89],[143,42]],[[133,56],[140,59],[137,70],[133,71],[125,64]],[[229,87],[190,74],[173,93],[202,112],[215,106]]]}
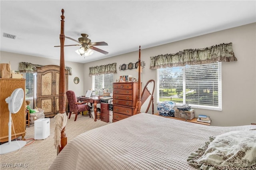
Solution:
{"label": "white floor fan with round head, pole and base", "polygon": [[20,110],[24,100],[24,91],[21,88],[15,89],[10,97],[5,99],[8,103],[9,109],[9,123],[8,123],[8,143],[0,145],[0,154],[6,154],[18,150],[26,145],[26,141],[15,140],[12,141],[12,113],[15,114]]}

